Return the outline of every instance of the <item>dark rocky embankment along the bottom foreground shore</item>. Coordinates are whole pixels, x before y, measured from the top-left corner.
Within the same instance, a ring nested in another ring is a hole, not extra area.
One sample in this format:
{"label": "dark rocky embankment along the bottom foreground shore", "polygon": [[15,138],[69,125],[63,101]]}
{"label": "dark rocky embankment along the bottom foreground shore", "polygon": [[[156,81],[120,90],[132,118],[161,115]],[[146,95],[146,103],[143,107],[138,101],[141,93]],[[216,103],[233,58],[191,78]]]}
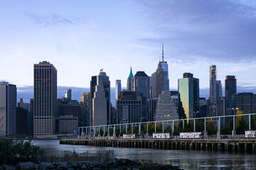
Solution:
{"label": "dark rocky embankment along the bottom foreground shore", "polygon": [[11,165],[0,165],[0,170],[48,170],[48,169],[58,169],[58,170],[75,170],[75,169],[85,169],[85,170],[100,170],[100,169],[117,169],[117,170],[135,170],[135,169],[177,169],[178,166],[172,165],[162,165],[162,164],[148,164],[141,162],[134,162],[129,159],[115,159],[111,162],[105,162],[98,164],[97,162],[59,162],[59,163],[41,163],[34,164],[32,162],[21,162],[15,166]]}

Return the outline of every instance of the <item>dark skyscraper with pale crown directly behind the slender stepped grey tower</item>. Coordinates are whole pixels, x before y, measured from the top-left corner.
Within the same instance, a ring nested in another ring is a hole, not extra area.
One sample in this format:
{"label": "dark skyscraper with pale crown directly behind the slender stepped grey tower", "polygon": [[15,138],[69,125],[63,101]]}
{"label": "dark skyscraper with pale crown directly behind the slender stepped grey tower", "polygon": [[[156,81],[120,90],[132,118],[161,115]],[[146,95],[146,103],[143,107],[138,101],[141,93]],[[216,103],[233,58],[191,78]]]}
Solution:
{"label": "dark skyscraper with pale crown directly behind the slender stepped grey tower", "polygon": [[[100,74],[98,76],[92,77],[92,81],[90,81],[90,95],[91,95],[91,104],[90,104],[90,125],[92,125],[92,109],[94,106],[92,106],[92,99],[95,98],[95,91],[96,86],[102,86],[102,89],[105,93],[105,98],[107,99],[107,125],[111,124],[111,118],[110,118],[110,78],[107,77],[107,74],[103,72],[103,69],[100,70]],[[98,91],[101,91],[101,87],[98,88]],[[100,92],[99,92],[100,94]],[[98,96],[100,97],[100,95]],[[105,116],[105,115],[104,115]]]}

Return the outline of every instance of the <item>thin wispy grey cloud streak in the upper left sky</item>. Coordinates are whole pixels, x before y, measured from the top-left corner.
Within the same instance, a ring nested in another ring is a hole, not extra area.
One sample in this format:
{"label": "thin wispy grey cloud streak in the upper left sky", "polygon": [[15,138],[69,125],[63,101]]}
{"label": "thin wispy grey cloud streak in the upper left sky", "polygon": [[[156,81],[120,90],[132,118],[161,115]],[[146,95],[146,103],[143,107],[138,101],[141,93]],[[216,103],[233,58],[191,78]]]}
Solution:
{"label": "thin wispy grey cloud streak in the upper left sky", "polygon": [[25,16],[35,23],[37,26],[48,27],[48,26],[75,26],[82,23],[87,23],[84,16],[78,17],[65,17],[60,15],[48,15],[40,16],[35,13],[25,13]]}

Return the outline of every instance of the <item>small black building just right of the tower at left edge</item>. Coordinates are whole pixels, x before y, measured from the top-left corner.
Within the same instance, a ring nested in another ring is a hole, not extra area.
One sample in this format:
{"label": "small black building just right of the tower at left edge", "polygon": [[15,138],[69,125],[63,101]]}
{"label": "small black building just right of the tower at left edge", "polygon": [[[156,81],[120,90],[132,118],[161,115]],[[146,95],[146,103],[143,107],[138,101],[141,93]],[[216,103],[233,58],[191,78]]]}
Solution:
{"label": "small black building just right of the tower at left edge", "polygon": [[17,135],[28,135],[28,111],[17,107]]}

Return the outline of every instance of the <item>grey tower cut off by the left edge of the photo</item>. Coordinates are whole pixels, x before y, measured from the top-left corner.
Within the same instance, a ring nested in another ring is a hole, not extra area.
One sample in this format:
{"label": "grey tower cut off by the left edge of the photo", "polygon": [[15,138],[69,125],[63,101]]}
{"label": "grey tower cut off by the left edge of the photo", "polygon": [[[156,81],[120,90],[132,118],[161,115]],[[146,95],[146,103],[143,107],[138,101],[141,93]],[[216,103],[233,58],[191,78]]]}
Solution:
{"label": "grey tower cut off by the left edge of the photo", "polygon": [[0,136],[16,134],[16,85],[0,81]]}

